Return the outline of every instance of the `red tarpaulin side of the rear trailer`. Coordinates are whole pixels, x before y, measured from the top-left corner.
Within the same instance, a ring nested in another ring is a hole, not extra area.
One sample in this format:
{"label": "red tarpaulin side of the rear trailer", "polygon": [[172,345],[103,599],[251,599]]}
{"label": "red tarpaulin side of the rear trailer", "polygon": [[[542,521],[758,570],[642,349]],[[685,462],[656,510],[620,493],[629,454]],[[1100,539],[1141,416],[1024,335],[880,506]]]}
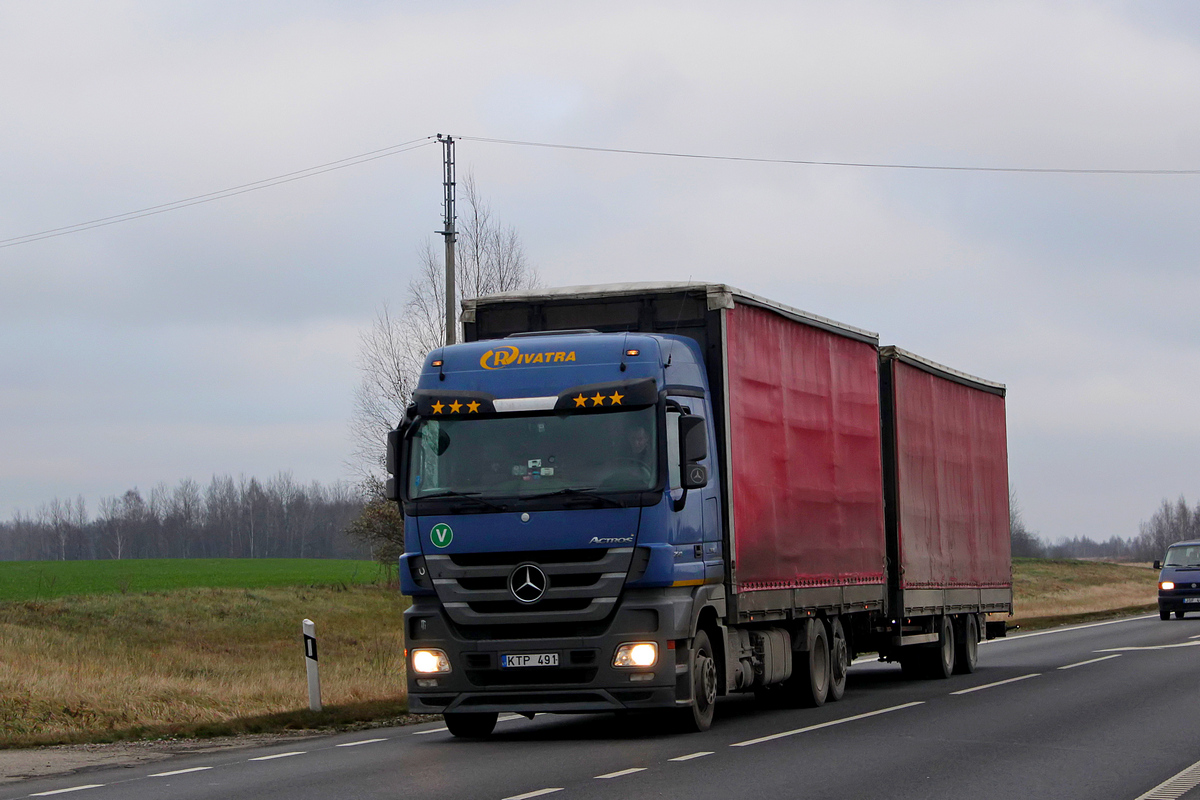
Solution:
{"label": "red tarpaulin side of the rear trailer", "polygon": [[1004,398],[892,363],[901,585],[1012,585]]}

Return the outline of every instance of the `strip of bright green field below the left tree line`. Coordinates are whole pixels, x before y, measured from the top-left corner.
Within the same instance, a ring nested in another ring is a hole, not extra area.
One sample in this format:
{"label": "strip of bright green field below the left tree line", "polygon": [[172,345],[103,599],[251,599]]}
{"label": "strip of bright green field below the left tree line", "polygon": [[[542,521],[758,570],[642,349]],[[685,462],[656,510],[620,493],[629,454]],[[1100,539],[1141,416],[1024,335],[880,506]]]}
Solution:
{"label": "strip of bright green field below the left tree line", "polygon": [[0,602],[197,587],[334,587],[377,583],[384,577],[376,561],[335,559],[0,561]]}

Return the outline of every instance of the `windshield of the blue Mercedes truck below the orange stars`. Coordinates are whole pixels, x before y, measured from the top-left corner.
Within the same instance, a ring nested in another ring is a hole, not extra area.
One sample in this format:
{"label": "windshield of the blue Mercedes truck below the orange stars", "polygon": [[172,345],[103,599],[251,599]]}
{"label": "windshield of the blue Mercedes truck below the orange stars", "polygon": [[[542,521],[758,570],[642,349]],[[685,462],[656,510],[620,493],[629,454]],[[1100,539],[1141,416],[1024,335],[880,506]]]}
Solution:
{"label": "windshield of the blue Mercedes truck below the orange stars", "polygon": [[422,420],[409,447],[408,497],[652,489],[658,485],[655,420],[653,405],[611,414]]}

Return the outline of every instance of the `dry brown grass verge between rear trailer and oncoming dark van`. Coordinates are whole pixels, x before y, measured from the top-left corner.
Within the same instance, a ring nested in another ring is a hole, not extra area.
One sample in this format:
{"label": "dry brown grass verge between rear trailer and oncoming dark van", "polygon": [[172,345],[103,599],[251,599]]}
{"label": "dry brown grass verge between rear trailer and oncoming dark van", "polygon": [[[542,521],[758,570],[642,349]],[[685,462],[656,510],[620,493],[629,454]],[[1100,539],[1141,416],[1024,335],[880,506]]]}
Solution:
{"label": "dry brown grass verge between rear trailer and oncoming dark van", "polygon": [[1158,573],[1148,565],[1069,559],[1013,559],[1013,621],[1150,609]]}

